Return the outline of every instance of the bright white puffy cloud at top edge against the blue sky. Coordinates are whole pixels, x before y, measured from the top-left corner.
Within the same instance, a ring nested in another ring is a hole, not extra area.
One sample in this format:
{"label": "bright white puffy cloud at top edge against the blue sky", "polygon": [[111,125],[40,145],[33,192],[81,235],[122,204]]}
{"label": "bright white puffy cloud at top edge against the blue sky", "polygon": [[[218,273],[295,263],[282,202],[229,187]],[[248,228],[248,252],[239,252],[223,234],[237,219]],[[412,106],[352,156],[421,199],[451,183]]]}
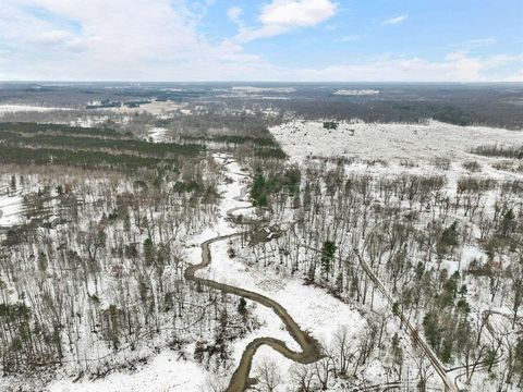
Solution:
{"label": "bright white puffy cloud at top edge against the blue sky", "polygon": [[260,26],[243,27],[233,38],[236,42],[273,37],[293,28],[312,27],[336,14],[330,0],[272,0],[258,16]]}

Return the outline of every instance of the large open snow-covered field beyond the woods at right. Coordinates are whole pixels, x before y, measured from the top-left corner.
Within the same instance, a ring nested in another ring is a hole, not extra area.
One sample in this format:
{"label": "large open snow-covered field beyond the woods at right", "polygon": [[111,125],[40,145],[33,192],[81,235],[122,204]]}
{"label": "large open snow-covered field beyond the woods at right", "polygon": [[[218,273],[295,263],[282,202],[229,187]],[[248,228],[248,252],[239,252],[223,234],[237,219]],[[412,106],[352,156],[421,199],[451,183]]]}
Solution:
{"label": "large open snow-covered field beyond the woods at right", "polygon": [[523,144],[523,132],[437,121],[427,125],[340,122],[337,130],[326,130],[323,121],[294,120],[269,131],[291,159],[297,161],[308,156],[460,160],[473,159],[470,149],[481,145]]}

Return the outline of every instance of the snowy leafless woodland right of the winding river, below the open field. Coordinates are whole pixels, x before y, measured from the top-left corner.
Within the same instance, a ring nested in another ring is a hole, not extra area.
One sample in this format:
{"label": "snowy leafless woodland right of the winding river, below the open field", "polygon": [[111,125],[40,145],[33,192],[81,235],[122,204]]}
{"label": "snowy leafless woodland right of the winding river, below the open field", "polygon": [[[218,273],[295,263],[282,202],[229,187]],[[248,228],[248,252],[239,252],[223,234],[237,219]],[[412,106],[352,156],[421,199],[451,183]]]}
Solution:
{"label": "snowy leafless woodland right of the winding river, below the open field", "polygon": [[[392,314],[417,326],[443,364],[463,369],[460,382],[486,369],[494,383],[522,384],[514,359],[514,332],[523,328],[521,182],[465,173],[449,188],[445,170],[356,174],[343,162],[317,161],[294,170],[300,186],[292,194],[278,174],[285,172],[281,164],[266,166],[253,182],[255,203],[271,189],[263,217],[293,215],[277,241],[254,245],[264,267],[284,268],[373,309],[378,290],[357,249],[396,298]],[[484,257],[471,260],[465,249]],[[490,309],[503,306],[512,311],[496,317],[511,338],[491,324]]]}

